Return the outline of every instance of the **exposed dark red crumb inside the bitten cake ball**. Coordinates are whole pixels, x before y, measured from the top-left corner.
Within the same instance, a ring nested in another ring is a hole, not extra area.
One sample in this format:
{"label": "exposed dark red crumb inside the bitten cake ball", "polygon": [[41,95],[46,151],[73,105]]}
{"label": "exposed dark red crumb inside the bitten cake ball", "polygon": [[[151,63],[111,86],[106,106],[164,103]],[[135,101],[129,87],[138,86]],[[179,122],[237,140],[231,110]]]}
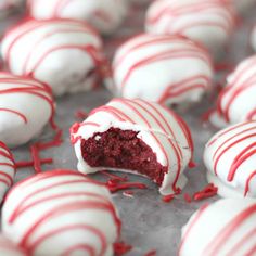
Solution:
{"label": "exposed dark red crumb inside the bitten cake ball", "polygon": [[136,170],[162,184],[167,167],[162,166],[155,153],[142,140],[139,132],[111,128],[81,140],[81,154],[91,167],[108,167]]}

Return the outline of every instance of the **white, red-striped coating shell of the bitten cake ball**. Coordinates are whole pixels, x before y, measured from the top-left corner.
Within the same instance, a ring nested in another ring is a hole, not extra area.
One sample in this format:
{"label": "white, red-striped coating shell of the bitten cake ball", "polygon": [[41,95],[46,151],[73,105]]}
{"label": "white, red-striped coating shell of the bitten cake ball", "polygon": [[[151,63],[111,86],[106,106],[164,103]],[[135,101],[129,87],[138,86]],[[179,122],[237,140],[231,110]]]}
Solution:
{"label": "white, red-striped coating shell of the bitten cake ball", "polygon": [[182,172],[193,152],[190,131],[174,112],[143,100],[114,99],[92,111],[84,123],[78,126],[76,124],[71,129],[79,171],[90,174],[107,168],[94,168],[85,162],[81,155],[81,139],[87,140],[95,132],[105,132],[112,127],[139,131],[137,137],[152,149],[157,162],[167,167],[168,172],[165,174],[159,188],[162,194],[172,194],[178,188],[184,187],[187,178]]}

